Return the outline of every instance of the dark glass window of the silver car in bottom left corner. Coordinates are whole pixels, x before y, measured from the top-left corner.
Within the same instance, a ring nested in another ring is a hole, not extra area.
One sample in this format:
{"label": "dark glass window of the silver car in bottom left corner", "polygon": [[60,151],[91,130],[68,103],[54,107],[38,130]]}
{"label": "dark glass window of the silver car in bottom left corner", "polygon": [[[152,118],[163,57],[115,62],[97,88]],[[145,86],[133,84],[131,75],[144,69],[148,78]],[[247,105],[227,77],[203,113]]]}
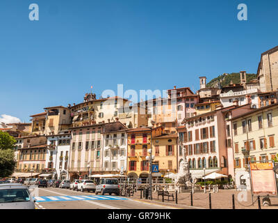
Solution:
{"label": "dark glass window of the silver car in bottom left corner", "polygon": [[0,203],[30,201],[26,189],[3,189],[0,190]]}

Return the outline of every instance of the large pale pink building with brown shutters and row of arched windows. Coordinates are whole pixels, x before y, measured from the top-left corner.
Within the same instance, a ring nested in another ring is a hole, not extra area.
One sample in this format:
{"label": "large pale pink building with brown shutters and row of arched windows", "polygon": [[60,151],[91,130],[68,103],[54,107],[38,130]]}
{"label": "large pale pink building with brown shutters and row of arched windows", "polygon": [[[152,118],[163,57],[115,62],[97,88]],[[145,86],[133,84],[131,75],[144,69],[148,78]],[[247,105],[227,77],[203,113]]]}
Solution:
{"label": "large pale pink building with brown shutters and row of arched windows", "polygon": [[[229,174],[228,170],[228,153],[227,148],[227,129],[225,119],[227,112],[235,116],[240,112],[246,112],[247,107],[244,105],[238,107],[218,108],[212,112],[200,114],[192,118],[186,118],[184,129],[178,129],[180,144],[186,148],[186,158],[189,162],[190,173],[195,178],[204,176],[213,171],[220,174]],[[181,160],[179,160],[181,162]]]}

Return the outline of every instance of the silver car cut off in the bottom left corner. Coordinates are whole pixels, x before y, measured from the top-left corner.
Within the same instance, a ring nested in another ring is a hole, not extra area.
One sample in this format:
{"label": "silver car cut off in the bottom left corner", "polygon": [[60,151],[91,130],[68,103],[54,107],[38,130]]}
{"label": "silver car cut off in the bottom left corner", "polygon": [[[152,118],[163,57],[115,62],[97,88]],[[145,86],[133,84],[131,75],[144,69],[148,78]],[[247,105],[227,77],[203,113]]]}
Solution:
{"label": "silver car cut off in the bottom left corner", "polygon": [[0,185],[0,209],[35,209],[35,200],[26,185],[5,183]]}

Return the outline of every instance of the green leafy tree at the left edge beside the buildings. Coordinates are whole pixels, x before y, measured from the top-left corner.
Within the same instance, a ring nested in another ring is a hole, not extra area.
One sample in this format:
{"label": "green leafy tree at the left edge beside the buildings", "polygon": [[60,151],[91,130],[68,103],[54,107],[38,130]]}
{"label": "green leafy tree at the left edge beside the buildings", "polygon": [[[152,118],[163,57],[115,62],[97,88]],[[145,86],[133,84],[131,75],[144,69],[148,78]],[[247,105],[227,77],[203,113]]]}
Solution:
{"label": "green leafy tree at the left edge beside the buildings", "polygon": [[0,131],[0,177],[6,177],[15,171],[15,139],[7,132]]}

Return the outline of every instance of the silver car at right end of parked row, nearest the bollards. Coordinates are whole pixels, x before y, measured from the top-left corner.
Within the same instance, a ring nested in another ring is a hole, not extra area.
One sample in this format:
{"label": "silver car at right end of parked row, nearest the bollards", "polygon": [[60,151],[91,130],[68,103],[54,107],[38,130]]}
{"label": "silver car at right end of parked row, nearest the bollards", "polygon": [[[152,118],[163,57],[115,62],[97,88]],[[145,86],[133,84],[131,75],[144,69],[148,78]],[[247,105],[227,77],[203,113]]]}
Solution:
{"label": "silver car at right end of parked row, nearest the bollards", "polygon": [[96,186],[95,194],[120,194],[120,185],[115,178],[101,178],[99,180],[99,185]]}

